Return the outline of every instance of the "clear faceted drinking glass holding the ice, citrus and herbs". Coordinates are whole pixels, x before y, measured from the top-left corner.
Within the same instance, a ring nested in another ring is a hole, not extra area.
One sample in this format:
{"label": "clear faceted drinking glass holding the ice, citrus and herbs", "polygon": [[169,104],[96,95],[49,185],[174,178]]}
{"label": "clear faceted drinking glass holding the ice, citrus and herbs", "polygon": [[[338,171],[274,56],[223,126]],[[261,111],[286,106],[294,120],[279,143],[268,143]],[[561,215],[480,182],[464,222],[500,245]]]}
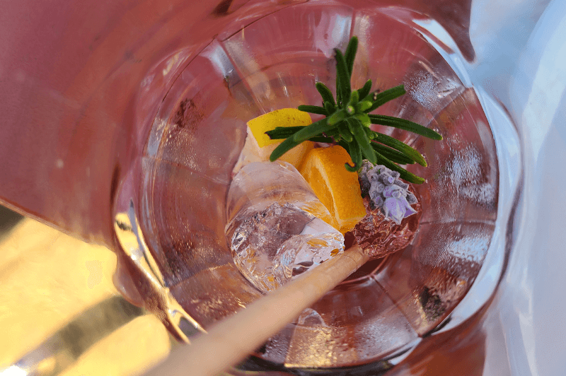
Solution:
{"label": "clear faceted drinking glass holding the ice, citrus and herbs", "polygon": [[[409,247],[330,291],[241,369],[386,370],[410,358],[420,342],[434,348],[436,332],[470,322],[492,296],[497,283],[476,279],[485,269],[504,270],[502,233],[520,169],[508,151],[518,137],[497,103],[470,86],[458,65],[461,52],[422,26],[424,16],[340,1],[273,10],[259,17],[250,6],[178,66],[144,155],[117,191],[123,291],[185,341],[260,298],[234,266],[224,235],[226,194],[246,122],[317,103],[316,81],[334,88],[333,48],[344,49],[357,35],[353,86],[368,78],[379,90],[403,83],[408,94],[379,113],[444,136],[438,142],[379,129],[427,158],[429,168],[409,168],[427,179],[416,186],[420,228]],[[471,298],[458,310],[467,293]]]}

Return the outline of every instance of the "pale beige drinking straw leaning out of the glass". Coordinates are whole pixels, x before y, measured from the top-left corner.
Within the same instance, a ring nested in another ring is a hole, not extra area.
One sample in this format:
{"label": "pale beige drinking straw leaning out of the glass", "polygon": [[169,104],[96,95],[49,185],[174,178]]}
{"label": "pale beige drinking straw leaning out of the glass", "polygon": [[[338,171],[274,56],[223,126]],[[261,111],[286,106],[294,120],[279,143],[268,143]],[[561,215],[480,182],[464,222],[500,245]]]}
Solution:
{"label": "pale beige drinking straw leaning out of the glass", "polygon": [[299,317],[368,259],[357,245],[347,249],[215,324],[190,344],[176,348],[145,376],[219,375]]}

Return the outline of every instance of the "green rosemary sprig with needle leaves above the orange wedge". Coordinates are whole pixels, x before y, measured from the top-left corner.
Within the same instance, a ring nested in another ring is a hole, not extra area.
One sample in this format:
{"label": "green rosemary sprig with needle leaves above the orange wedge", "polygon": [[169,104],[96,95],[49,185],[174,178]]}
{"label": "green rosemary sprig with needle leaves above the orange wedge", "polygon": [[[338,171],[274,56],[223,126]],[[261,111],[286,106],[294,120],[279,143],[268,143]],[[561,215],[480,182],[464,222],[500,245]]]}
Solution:
{"label": "green rosemary sprig with needle leaves above the orange wedge", "polygon": [[350,81],[357,47],[358,39],[352,37],[344,54],[339,49],[334,50],[336,100],[324,83],[317,82],[316,89],[323,99],[323,105],[298,107],[301,111],[321,114],[325,118],[307,127],[277,127],[265,132],[270,139],[284,139],[272,152],[270,160],[276,160],[304,141],[337,143],[352,157],[354,165],[345,164],[345,168],[349,171],[359,170],[362,167],[362,158],[365,158],[371,163],[379,163],[400,172],[400,177],[408,182],[421,184],[424,182],[422,177],[413,175],[397,164],[407,165],[416,162],[426,167],[427,162],[421,153],[391,136],[372,131],[369,127],[371,124],[395,127],[433,140],[441,140],[442,136],[432,129],[409,120],[369,114],[386,102],[405,94],[405,88],[400,85],[381,93],[371,93],[371,80],[368,80],[359,90],[352,90]]}

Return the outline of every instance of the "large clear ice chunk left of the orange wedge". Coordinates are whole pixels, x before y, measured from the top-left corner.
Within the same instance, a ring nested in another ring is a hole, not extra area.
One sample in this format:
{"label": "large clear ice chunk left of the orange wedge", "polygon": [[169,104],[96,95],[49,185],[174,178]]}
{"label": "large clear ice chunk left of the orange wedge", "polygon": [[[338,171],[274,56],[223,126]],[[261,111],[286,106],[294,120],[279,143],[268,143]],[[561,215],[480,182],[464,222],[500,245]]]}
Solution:
{"label": "large clear ice chunk left of the orange wedge", "polygon": [[246,165],[227,211],[234,263],[263,293],[344,251],[342,234],[320,218],[330,218],[328,209],[289,163]]}

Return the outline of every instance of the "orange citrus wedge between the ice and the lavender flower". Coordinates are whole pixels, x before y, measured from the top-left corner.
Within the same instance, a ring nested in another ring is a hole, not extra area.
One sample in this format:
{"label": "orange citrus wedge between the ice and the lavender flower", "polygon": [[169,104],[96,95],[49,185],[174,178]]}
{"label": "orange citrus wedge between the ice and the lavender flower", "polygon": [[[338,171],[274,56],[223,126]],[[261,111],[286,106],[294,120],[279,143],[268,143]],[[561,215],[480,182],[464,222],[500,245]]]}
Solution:
{"label": "orange citrus wedge between the ice and the lavender flower", "polygon": [[344,163],[352,165],[352,159],[342,146],[316,148],[306,155],[299,170],[333,216],[335,223],[330,225],[342,234],[366,216],[358,175],[346,170]]}

